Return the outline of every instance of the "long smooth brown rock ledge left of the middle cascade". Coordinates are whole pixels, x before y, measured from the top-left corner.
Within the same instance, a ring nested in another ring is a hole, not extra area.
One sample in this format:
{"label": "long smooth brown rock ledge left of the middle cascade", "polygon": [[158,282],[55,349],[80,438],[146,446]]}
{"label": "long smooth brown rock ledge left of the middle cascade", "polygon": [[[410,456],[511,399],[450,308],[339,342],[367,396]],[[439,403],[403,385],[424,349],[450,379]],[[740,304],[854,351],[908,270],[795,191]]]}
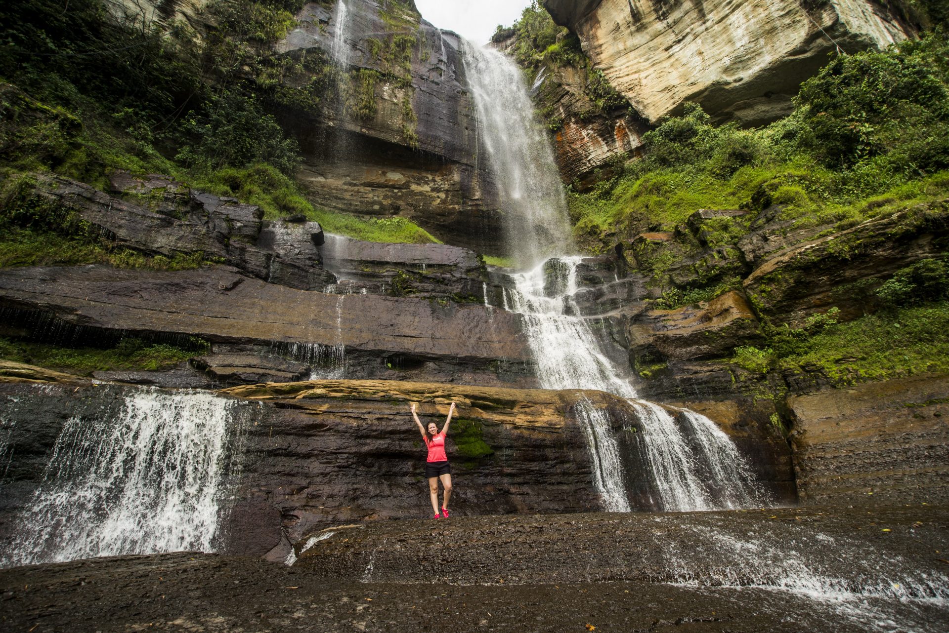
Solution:
{"label": "long smooth brown rock ledge left of the middle cascade", "polygon": [[301,360],[321,346],[340,347],[359,377],[396,377],[398,367],[386,363],[397,356],[418,363],[428,379],[533,384],[518,315],[447,300],[306,292],[223,267],[8,268],[0,271],[0,307],[34,337],[64,345],[199,336],[215,353],[258,346],[245,367],[259,363],[259,353]]}

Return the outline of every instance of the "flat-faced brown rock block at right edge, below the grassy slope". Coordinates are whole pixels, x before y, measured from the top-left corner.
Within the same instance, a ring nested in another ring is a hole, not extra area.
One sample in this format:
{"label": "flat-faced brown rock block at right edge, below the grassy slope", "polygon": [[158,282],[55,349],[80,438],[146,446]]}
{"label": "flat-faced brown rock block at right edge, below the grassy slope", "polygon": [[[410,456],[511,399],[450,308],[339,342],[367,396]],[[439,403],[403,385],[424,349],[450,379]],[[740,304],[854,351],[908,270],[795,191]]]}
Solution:
{"label": "flat-faced brown rock block at right edge, below the grassy slope", "polygon": [[788,405],[802,502],[949,500],[949,376],[828,389]]}

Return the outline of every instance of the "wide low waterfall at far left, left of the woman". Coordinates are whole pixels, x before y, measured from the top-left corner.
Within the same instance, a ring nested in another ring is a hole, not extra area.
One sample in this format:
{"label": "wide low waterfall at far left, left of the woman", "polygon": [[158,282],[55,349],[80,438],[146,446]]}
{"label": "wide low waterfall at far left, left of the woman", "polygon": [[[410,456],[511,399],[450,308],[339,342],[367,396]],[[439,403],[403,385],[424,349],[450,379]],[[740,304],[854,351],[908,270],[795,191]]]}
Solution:
{"label": "wide low waterfall at far left, left of the woman", "polygon": [[234,407],[211,393],[141,389],[118,415],[70,418],[4,565],[213,552]]}

